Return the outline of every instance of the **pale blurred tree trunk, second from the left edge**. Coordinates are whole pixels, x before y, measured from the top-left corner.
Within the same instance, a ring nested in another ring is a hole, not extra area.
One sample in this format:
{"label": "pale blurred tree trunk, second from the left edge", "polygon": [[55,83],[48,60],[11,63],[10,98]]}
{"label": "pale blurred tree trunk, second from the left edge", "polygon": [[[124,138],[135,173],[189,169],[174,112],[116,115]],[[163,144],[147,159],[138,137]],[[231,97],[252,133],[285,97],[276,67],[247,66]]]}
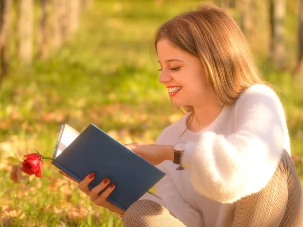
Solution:
{"label": "pale blurred tree trunk, second from the left edge", "polygon": [[18,12],[19,58],[25,64],[32,62],[33,55],[33,0],[20,0]]}

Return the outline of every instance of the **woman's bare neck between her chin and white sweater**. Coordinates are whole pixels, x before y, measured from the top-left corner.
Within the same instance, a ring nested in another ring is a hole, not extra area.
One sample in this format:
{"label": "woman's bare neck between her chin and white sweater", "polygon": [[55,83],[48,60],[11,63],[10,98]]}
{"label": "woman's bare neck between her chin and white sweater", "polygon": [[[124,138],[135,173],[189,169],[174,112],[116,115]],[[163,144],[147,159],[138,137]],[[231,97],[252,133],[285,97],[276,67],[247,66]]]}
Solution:
{"label": "woman's bare neck between her chin and white sweater", "polygon": [[[194,114],[188,119],[188,128],[190,131],[198,132],[212,124],[220,115],[223,106],[218,103],[193,107]],[[191,123],[190,123],[191,122]],[[189,125],[190,123],[190,125]]]}

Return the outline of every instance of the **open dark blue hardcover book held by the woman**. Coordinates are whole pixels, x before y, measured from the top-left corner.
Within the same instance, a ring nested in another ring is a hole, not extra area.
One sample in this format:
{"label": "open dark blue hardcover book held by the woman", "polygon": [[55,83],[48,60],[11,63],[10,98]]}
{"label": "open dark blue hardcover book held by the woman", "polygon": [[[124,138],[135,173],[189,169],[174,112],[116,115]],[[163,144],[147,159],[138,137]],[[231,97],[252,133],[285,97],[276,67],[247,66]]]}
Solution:
{"label": "open dark blue hardcover book held by the woman", "polygon": [[107,200],[122,210],[127,210],[165,176],[93,124],[82,133],[62,124],[53,158],[53,165],[79,182],[94,172],[89,189],[109,178],[107,187],[115,183],[115,189]]}

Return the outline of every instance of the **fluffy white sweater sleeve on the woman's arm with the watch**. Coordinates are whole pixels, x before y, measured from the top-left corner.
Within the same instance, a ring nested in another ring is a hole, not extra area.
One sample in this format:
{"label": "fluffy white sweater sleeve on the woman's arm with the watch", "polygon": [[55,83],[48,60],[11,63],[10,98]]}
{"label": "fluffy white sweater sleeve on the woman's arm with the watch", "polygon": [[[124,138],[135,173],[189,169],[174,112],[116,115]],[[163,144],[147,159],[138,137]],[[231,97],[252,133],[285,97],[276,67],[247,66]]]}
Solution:
{"label": "fluffy white sweater sleeve on the woman's arm with the watch", "polygon": [[235,103],[234,133],[204,132],[183,153],[182,165],[190,171],[194,189],[222,203],[264,188],[283,151],[287,127],[282,104],[269,87],[253,87]]}

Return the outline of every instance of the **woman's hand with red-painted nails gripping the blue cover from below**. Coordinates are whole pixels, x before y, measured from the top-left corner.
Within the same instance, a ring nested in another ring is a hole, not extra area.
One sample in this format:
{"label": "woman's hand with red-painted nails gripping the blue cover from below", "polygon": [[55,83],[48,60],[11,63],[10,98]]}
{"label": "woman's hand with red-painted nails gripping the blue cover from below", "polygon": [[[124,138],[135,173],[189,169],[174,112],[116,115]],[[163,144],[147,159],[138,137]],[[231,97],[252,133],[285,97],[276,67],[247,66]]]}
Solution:
{"label": "woman's hand with red-painted nails gripping the blue cover from below", "polygon": [[81,182],[76,181],[72,177],[68,176],[62,171],[59,171],[60,174],[64,175],[65,177],[71,179],[72,181],[79,184],[79,189],[84,192],[86,195],[89,196],[90,201],[92,201],[97,206],[102,206],[108,208],[111,212],[118,213],[123,215],[125,213],[124,210],[120,209],[119,207],[115,206],[114,204],[110,203],[106,200],[106,198],[114,191],[115,184],[111,184],[109,188],[107,188],[102,194],[98,195],[100,191],[106,188],[110,184],[110,180],[106,178],[103,182],[98,184],[92,190],[88,188],[88,184],[94,179],[94,173],[86,176]]}

